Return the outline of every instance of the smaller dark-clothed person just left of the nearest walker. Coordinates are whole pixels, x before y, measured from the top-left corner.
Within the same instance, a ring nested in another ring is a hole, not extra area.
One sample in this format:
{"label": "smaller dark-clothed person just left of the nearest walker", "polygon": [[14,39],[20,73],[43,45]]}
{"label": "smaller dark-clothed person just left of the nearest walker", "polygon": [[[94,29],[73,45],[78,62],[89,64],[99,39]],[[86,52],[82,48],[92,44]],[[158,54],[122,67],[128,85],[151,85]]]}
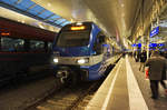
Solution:
{"label": "smaller dark-clothed person just left of the nearest walker", "polygon": [[139,71],[141,70],[144,72],[145,70],[145,62],[147,60],[147,53],[146,53],[146,50],[144,50],[141,53],[140,53],[140,67],[139,67]]}

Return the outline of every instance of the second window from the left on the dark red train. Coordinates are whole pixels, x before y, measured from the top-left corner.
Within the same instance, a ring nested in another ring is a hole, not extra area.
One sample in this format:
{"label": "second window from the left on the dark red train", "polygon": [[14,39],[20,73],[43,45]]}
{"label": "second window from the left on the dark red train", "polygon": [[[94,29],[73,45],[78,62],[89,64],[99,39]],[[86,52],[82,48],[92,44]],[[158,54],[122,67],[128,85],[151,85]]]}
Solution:
{"label": "second window from the left on the dark red train", "polygon": [[30,51],[45,50],[45,42],[38,40],[30,40]]}

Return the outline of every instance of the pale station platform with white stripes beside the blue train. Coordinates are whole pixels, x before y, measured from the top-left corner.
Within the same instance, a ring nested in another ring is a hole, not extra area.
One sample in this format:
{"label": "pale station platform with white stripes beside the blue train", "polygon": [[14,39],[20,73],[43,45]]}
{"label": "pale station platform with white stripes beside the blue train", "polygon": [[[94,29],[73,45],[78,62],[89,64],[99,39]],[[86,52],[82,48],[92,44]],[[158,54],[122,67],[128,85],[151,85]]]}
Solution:
{"label": "pale station platform with white stripes beside the blue train", "polygon": [[[167,82],[166,82],[167,83]],[[139,71],[139,62],[121,58],[86,110],[167,110],[167,96],[159,86],[159,98],[153,100],[149,80]]]}

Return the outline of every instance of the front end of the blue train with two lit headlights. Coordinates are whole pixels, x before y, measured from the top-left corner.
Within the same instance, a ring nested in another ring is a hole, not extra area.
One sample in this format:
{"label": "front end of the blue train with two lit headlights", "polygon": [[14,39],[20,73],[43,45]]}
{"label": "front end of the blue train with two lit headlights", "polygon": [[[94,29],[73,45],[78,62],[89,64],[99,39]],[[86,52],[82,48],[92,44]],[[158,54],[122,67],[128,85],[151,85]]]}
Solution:
{"label": "front end of the blue train with two lit headlights", "polygon": [[[59,32],[52,52],[55,76],[61,83],[97,80],[99,64],[95,64],[95,37],[99,29],[92,23],[72,23],[65,26]],[[94,57],[94,59],[92,59]],[[96,58],[101,61],[101,58]]]}

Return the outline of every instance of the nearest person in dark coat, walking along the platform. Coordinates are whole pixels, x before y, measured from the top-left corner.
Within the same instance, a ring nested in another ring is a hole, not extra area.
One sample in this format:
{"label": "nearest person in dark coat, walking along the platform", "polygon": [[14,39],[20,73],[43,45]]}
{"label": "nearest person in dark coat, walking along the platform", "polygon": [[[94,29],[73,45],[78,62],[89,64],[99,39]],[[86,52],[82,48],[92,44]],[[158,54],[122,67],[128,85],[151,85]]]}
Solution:
{"label": "nearest person in dark coat, walking along the platform", "polygon": [[158,51],[154,51],[151,57],[146,61],[146,67],[149,68],[148,78],[150,81],[151,98],[158,98],[158,83],[160,82],[167,92],[166,83],[166,59],[159,56]]}

